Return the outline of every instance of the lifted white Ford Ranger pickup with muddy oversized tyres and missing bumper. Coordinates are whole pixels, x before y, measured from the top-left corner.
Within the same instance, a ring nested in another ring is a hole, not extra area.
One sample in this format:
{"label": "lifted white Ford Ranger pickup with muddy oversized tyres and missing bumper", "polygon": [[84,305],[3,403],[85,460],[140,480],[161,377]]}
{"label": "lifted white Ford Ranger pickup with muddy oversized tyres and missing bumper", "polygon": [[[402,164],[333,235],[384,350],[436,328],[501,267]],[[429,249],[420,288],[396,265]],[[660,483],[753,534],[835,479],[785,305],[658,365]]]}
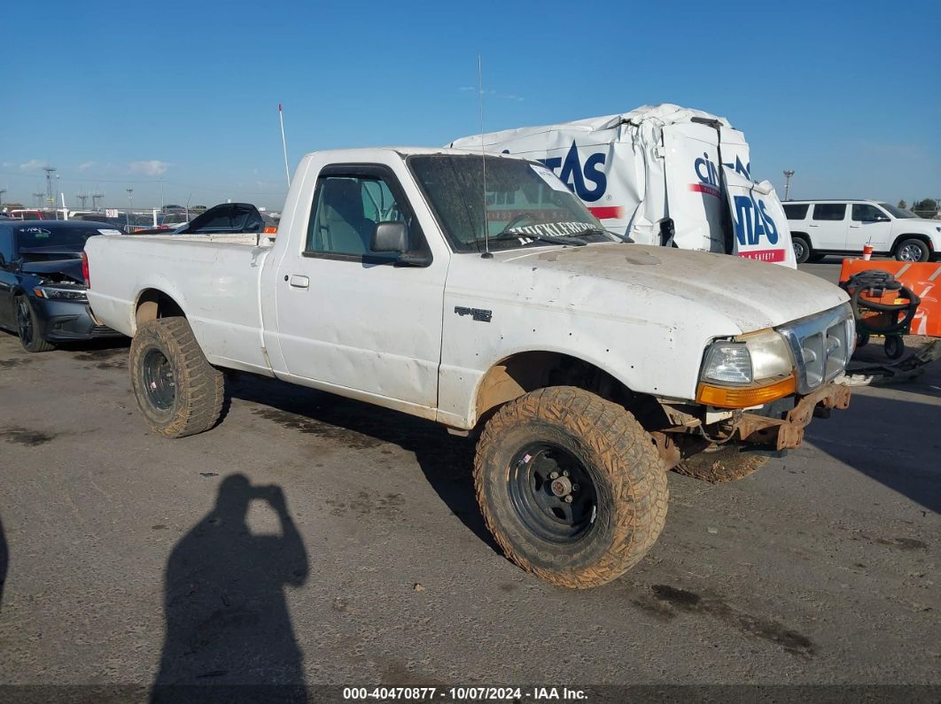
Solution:
{"label": "lifted white Ford Ranger pickup with muddy oversized tyres and missing bumper", "polygon": [[312,153],[261,238],[88,240],[89,303],[134,337],[152,430],[212,428],[229,368],[479,431],[486,524],[557,585],[603,584],[646,554],[668,469],[742,477],[849,404],[833,383],[853,351],[843,291],[623,242],[543,164]]}

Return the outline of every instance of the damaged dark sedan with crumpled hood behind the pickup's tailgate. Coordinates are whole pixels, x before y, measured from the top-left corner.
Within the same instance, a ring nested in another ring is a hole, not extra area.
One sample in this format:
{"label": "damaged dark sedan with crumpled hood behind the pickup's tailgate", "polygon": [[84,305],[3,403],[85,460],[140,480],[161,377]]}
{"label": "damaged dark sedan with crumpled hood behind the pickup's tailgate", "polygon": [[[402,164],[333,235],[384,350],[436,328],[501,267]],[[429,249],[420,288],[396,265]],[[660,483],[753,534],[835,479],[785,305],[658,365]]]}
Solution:
{"label": "damaged dark sedan with crumpled hood behind the pickup's tailgate", "polygon": [[82,271],[86,240],[110,233],[107,223],[0,221],[0,327],[16,333],[26,352],[120,336],[92,316]]}

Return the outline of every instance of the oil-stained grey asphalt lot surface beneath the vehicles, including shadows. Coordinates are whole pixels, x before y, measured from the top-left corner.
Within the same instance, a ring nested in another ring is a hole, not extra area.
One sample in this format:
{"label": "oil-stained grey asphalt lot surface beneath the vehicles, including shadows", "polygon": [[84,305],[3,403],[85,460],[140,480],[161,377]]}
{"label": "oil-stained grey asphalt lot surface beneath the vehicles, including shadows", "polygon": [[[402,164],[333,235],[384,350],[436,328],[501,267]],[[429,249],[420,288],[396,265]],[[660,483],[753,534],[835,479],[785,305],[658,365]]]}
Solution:
{"label": "oil-stained grey asphalt lot surface beneath the vehicles, including shadows", "polygon": [[245,376],[166,440],[126,363],[0,333],[0,685],[941,685],[941,363],[752,477],[671,474],[590,591],[499,553],[468,440]]}

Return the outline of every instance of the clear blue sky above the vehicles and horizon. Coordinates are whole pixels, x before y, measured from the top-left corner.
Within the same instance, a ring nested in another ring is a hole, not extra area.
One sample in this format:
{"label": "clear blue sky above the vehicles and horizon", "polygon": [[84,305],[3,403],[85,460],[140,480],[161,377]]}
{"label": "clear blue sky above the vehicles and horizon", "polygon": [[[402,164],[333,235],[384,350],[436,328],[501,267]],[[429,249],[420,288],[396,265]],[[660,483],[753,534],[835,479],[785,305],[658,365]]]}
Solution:
{"label": "clear blue sky above the vehicles and horizon", "polygon": [[[441,145],[676,102],[791,197],[941,197],[941,3],[161,3],[4,12],[0,188],[279,209],[316,149]],[[468,88],[471,89],[468,89]]]}

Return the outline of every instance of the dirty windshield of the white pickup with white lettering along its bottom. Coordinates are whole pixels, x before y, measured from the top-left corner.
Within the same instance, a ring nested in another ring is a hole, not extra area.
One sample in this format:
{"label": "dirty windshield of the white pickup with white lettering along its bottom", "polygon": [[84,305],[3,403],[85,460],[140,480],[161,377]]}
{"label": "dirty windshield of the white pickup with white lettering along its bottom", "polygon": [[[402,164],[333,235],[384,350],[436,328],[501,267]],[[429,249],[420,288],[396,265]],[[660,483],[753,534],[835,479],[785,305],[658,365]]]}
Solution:
{"label": "dirty windshield of the white pickup with white lettering along its bottom", "polygon": [[470,154],[408,158],[455,251],[485,251],[485,222],[492,251],[619,241],[542,164],[491,156],[485,173],[484,161]]}

